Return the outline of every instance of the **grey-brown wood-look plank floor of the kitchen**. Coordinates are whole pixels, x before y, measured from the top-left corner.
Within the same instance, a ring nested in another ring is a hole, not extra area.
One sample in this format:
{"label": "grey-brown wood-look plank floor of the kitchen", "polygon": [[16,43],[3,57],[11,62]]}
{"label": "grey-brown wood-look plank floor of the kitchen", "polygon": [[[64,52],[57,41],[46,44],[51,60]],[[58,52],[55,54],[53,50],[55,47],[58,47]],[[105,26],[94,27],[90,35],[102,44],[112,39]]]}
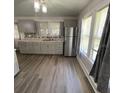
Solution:
{"label": "grey-brown wood-look plank floor of the kitchen", "polygon": [[14,93],[93,93],[76,57],[17,53]]}

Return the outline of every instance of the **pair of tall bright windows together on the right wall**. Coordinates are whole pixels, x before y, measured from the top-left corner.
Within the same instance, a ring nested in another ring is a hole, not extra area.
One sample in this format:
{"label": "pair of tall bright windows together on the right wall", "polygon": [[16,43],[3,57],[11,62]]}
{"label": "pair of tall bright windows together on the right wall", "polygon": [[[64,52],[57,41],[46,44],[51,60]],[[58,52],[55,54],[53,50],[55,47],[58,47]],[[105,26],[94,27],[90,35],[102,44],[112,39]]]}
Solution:
{"label": "pair of tall bright windows together on the right wall", "polygon": [[[83,18],[82,20],[80,52],[85,53],[92,63],[94,63],[97,55],[107,12],[108,7],[105,7],[97,11],[95,15]],[[92,22],[94,24],[91,24],[92,18],[94,18]],[[91,25],[93,28],[91,28]]]}

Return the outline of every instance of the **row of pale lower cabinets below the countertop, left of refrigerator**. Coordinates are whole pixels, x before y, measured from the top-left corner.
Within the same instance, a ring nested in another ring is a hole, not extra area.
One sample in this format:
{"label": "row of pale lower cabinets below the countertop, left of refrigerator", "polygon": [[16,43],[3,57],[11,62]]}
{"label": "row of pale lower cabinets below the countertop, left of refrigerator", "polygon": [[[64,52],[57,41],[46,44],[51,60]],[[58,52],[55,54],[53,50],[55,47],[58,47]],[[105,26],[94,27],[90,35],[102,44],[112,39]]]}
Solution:
{"label": "row of pale lower cabinets below the countertop, left of refrigerator", "polygon": [[63,42],[19,42],[19,50],[25,54],[63,54]]}

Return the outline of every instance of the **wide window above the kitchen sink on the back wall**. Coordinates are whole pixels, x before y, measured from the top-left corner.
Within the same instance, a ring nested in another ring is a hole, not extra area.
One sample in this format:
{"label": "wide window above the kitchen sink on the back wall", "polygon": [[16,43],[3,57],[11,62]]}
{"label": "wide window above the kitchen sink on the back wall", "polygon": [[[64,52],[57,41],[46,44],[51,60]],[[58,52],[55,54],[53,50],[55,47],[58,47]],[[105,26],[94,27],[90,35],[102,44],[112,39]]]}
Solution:
{"label": "wide window above the kitchen sink on the back wall", "polygon": [[40,35],[42,36],[59,36],[60,23],[59,22],[42,22],[40,23]]}

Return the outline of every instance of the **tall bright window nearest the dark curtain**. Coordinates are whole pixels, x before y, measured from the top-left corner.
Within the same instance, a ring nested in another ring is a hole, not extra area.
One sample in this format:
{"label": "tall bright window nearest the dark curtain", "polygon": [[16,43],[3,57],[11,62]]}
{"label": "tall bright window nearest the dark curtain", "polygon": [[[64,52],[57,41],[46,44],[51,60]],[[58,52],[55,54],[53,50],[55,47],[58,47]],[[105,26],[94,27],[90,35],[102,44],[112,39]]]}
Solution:
{"label": "tall bright window nearest the dark curtain", "polygon": [[98,11],[95,17],[95,25],[93,30],[93,41],[92,41],[92,48],[90,51],[90,58],[94,61],[96,58],[96,54],[99,48],[100,39],[102,36],[104,24],[106,21],[108,7]]}

